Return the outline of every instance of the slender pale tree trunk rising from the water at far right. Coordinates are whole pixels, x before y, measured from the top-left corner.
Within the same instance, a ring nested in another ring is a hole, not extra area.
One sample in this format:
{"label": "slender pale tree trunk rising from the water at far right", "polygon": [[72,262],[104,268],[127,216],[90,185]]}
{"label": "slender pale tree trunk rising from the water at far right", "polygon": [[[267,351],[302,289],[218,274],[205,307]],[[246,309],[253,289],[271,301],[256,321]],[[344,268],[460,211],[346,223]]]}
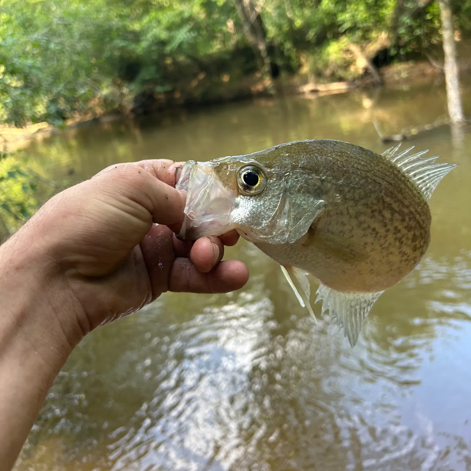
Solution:
{"label": "slender pale tree trunk rising from the water at far right", "polygon": [[443,52],[445,53],[445,81],[447,82],[448,114],[451,122],[463,122],[463,105],[461,103],[460,80],[456,62],[455,28],[450,0],[439,0],[443,34]]}

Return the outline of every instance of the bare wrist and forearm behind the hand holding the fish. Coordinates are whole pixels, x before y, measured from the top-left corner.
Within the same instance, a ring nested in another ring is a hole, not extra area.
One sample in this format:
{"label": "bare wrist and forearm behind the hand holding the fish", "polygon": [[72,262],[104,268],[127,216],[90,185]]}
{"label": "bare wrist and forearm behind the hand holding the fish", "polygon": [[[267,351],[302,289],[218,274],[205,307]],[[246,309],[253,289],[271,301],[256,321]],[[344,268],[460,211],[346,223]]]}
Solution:
{"label": "bare wrist and forearm behind the hand holding the fish", "polygon": [[43,237],[32,232],[23,227],[0,246],[2,469],[13,466],[49,388],[80,341],[64,315],[75,315],[66,283]]}

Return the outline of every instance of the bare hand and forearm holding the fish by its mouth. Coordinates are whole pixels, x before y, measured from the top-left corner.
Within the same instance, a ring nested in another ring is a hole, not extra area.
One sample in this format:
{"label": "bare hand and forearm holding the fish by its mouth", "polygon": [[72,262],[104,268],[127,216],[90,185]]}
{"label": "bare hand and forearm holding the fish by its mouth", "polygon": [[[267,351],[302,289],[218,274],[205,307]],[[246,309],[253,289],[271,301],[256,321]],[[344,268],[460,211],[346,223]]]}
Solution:
{"label": "bare hand and forearm holding the fish by its mouth", "polygon": [[[114,165],[51,198],[0,246],[0,463],[10,469],[47,391],[83,336],[165,291],[242,287],[220,262],[235,232],[177,240],[181,164]],[[219,263],[220,262],[220,263]]]}

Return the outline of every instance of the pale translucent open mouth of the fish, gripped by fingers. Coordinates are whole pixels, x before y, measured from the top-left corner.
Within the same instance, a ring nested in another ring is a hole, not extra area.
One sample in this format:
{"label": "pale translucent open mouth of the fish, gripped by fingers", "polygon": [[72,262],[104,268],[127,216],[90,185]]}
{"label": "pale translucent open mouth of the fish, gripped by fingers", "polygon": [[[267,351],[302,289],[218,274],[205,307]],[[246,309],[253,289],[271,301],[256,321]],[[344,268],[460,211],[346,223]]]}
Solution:
{"label": "pale translucent open mouth of the fish, gripped by fingers", "polygon": [[187,193],[179,239],[221,235],[236,227],[231,220],[236,192],[222,184],[211,162],[186,162],[176,188]]}

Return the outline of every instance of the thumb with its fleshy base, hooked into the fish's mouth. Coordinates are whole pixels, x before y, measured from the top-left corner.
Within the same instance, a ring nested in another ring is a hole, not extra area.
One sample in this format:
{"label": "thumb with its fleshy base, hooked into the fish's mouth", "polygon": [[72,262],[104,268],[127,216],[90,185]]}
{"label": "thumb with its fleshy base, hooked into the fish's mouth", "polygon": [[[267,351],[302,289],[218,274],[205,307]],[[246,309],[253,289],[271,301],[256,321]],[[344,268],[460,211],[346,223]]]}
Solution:
{"label": "thumb with its fleshy base, hooked into the fish's mouth", "polygon": [[184,194],[130,164],[57,194],[27,225],[48,241],[53,259],[100,276],[130,254],[153,222],[178,231],[184,208]]}

